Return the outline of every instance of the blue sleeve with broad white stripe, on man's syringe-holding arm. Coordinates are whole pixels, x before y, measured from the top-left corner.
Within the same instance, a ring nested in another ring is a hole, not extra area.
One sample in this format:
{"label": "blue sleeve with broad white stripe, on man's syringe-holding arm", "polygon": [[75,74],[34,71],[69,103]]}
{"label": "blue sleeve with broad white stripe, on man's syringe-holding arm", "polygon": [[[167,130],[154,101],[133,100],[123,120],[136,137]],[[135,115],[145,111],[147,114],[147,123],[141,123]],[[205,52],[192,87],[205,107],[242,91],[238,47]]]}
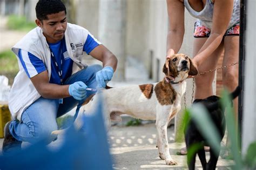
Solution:
{"label": "blue sleeve with broad white stripe, on man's syringe-holding arm", "polygon": [[18,57],[29,78],[46,70],[43,61],[30,52],[19,49]]}

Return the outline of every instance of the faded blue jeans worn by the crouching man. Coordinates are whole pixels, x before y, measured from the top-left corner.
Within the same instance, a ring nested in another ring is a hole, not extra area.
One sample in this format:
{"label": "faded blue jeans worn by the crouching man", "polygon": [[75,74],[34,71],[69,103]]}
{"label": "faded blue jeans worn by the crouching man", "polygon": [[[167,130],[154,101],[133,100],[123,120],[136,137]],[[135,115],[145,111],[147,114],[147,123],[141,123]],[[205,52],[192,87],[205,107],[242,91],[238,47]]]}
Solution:
{"label": "faded blue jeans worn by the crouching man", "polygon": [[[100,65],[91,65],[70,76],[64,84],[73,84],[76,81],[83,81],[88,87],[96,89],[96,72],[102,70]],[[89,97],[95,93],[86,91]],[[19,141],[35,143],[45,137],[50,137],[52,131],[58,130],[56,118],[72,110],[78,105],[78,100],[73,97],[63,99],[63,104],[59,104],[59,99],[39,98],[22,113],[21,122],[11,121],[10,133]],[[48,142],[52,139],[49,138]]]}

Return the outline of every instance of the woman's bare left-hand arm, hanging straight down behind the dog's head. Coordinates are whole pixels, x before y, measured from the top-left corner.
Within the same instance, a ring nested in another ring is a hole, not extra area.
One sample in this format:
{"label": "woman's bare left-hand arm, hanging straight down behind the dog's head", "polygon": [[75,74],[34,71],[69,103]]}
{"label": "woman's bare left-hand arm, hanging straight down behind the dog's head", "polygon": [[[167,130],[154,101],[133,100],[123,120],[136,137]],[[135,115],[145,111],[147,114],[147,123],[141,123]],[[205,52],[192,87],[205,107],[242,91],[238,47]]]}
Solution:
{"label": "woman's bare left-hand arm, hanging straight down behind the dog's head", "polygon": [[[178,53],[184,37],[184,4],[180,0],[166,0],[169,16],[166,56]],[[173,51],[174,50],[174,51]]]}

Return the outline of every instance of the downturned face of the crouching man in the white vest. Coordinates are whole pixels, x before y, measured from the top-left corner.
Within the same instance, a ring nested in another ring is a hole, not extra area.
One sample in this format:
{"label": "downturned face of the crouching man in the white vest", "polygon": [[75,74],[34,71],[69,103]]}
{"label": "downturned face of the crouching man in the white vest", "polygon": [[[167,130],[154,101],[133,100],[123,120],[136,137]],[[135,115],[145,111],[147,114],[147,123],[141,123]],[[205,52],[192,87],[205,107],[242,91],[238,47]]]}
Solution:
{"label": "downturned face of the crouching man in the white vest", "polygon": [[66,31],[65,11],[53,13],[47,16],[42,22],[36,19],[36,24],[42,28],[43,34],[48,43],[57,43],[62,40]]}

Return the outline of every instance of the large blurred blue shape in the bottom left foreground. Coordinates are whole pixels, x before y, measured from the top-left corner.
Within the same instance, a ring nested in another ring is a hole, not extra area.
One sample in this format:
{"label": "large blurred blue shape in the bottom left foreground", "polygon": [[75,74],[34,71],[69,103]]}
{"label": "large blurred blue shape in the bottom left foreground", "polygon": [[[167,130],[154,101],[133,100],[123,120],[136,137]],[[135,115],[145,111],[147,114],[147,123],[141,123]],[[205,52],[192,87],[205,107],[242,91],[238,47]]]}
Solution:
{"label": "large blurred blue shape in the bottom left foreground", "polygon": [[0,169],[112,169],[102,102],[83,117],[84,126],[68,128],[62,146],[50,149],[44,140],[8,156],[0,156]]}

